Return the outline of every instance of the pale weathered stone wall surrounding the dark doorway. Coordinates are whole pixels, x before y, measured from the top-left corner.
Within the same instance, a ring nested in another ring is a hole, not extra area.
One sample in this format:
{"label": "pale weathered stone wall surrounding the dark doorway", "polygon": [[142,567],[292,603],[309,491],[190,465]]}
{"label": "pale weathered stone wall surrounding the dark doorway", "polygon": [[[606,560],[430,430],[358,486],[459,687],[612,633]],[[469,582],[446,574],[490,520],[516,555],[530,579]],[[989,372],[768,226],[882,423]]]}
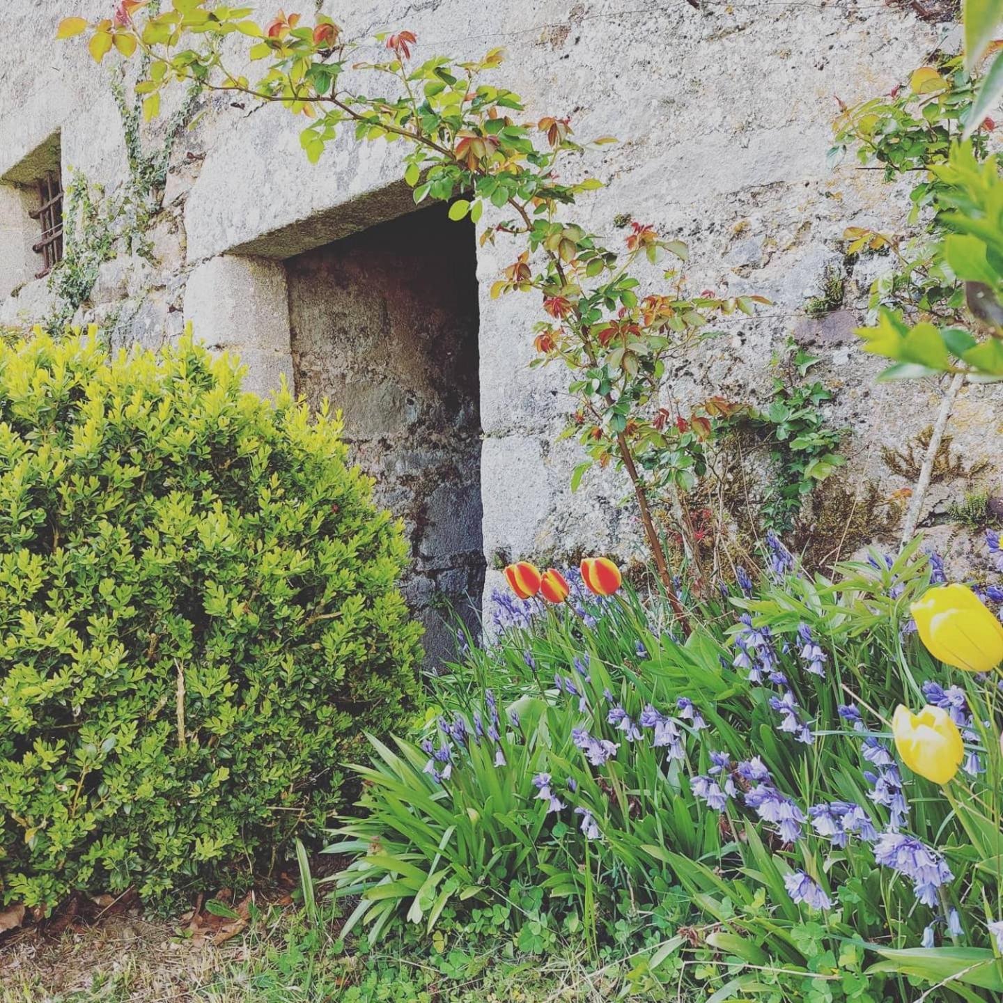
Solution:
{"label": "pale weathered stone wall surrounding the dark doorway", "polygon": [[[67,3],[12,0],[5,11],[18,58],[0,65],[0,179],[10,180],[58,132],[64,176],[72,166],[111,191],[127,170],[111,70],[95,67],[79,40],[52,41],[60,16],[95,16],[107,3]],[[309,17],[312,0],[301,6]],[[835,392],[830,420],[854,430],[841,489],[870,498],[875,525],[889,515],[884,499],[909,484],[908,469],[893,454],[908,450],[932,423],[943,388],[934,381],[875,382],[881,362],[861,352],[852,332],[863,319],[867,287],[890,263],[848,264],[842,235],[847,226],[899,228],[904,192],[890,192],[877,173],[852,162],[832,170],[825,153],[837,97],[852,103],[887,92],[936,46],[957,45],[956,27],[918,20],[909,6],[894,0],[322,4],[352,38],[383,27],[415,31],[422,55],[474,56],[504,45],[509,59],[496,79],[525,96],[528,118],[568,114],[583,139],[616,135],[618,145],[566,165],[606,185],[583,200],[579,221],[613,245],[625,218],[651,223],[689,243],[695,288],[772,300],[754,321],[729,319],[723,337],[681,365],[671,376],[676,394],[683,402],[708,391],[761,402],[772,384],[771,358],[796,337],[821,357],[812,375]],[[218,96],[203,99],[197,116],[197,126],[179,138],[164,210],[150,226],[149,259],[103,265],[77,319],[112,321],[117,340],[155,344],[176,336],[188,316],[210,343],[241,350],[251,365],[250,385],[264,389],[295,374],[284,263],[409,212],[399,183],[402,150],[360,145],[349,130],[310,166],[299,144],[302,121],[281,107]],[[155,144],[164,127],[160,121],[149,128],[146,143]],[[488,222],[485,214],[482,223]],[[6,215],[0,225],[7,226]],[[504,241],[476,249],[488,588],[497,584],[503,560],[557,560],[586,549],[630,556],[638,541],[632,511],[619,504],[626,493],[619,475],[590,475],[576,494],[569,489],[578,447],[554,442],[568,409],[566,375],[527,368],[539,304],[531,296],[491,300],[487,293],[514,254]],[[844,302],[809,320],[805,301],[830,268],[844,273]],[[656,282],[657,272],[648,278]],[[0,322],[44,316],[51,308],[44,281],[28,282],[0,307]],[[964,390],[951,426],[964,462],[935,485],[927,524],[941,521],[949,503],[971,486],[965,469],[973,461],[986,461],[979,482],[997,489],[1000,400],[998,390]],[[877,493],[863,494],[869,485]],[[935,526],[933,536],[964,556],[964,538],[954,527]]]}

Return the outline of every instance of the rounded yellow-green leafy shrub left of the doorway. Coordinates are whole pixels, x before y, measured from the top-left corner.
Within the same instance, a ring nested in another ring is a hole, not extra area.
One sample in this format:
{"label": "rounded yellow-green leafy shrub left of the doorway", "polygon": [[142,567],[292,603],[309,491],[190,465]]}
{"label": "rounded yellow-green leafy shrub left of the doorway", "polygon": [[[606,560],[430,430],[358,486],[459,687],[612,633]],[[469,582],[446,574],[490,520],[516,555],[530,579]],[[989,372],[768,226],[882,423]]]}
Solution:
{"label": "rounded yellow-green leafy shrub left of the doorway", "polygon": [[186,340],[0,345],[0,887],[266,866],[417,695],[406,547],[339,421]]}

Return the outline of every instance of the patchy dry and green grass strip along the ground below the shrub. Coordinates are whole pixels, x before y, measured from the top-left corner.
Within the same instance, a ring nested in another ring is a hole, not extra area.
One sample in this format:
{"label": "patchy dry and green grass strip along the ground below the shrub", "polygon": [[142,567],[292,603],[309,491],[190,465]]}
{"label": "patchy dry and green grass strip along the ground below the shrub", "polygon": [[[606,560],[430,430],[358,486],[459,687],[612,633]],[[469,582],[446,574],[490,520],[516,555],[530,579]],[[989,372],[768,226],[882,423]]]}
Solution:
{"label": "patchy dry and green grass strip along the ground below the shrub", "polygon": [[[183,924],[112,917],[47,939],[28,930],[0,944],[0,1003],[599,1003],[629,995],[628,965],[589,971],[574,946],[520,956],[504,939],[471,949],[459,934],[418,947],[387,938],[346,952],[319,903],[272,909],[241,938],[214,947]],[[627,995],[621,996],[621,992]],[[665,999],[689,997],[670,995]]]}

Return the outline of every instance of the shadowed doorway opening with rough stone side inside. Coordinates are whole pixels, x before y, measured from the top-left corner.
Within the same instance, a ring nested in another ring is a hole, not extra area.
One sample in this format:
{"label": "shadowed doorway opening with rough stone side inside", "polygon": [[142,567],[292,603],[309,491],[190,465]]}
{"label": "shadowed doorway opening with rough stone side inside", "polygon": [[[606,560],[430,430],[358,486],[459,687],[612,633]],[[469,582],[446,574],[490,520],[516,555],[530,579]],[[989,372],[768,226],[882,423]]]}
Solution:
{"label": "shadowed doorway opening with rough stone side inside", "polygon": [[286,264],[297,392],[342,410],[376,500],[404,521],[428,659],[447,657],[447,608],[472,626],[484,579],[474,228],[436,207]]}

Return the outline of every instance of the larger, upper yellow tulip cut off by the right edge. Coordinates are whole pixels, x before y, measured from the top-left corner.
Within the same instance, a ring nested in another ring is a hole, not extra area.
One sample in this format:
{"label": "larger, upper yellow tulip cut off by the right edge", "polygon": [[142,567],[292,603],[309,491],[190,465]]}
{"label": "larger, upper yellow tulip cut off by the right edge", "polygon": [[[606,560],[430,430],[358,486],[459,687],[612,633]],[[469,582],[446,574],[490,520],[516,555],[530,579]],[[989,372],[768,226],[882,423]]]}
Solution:
{"label": "larger, upper yellow tulip cut off by the right edge", "polygon": [[1003,662],[1003,624],[967,586],[939,585],[910,610],[934,658],[968,672],[989,672]]}

